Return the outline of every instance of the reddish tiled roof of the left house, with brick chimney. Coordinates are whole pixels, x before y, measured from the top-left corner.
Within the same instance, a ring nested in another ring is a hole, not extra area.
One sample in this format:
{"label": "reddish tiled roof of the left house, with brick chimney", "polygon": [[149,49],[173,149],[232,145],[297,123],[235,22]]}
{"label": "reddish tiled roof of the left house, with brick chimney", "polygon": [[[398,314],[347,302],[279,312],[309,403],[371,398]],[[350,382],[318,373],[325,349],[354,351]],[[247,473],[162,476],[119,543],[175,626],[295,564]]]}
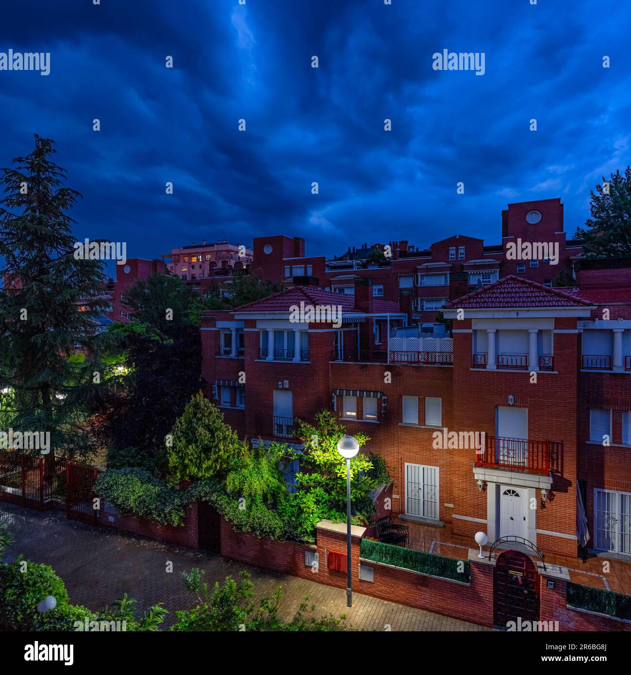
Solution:
{"label": "reddish tiled roof of the left house, with brick chimney", "polygon": [[[236,312],[289,312],[292,305],[300,306],[300,302],[312,305],[335,304],[342,308],[343,312],[361,312],[355,307],[355,296],[345,293],[331,293],[320,288],[309,286],[294,286],[287,290],[275,293],[261,300],[248,302],[238,308]],[[390,300],[373,298],[373,313],[393,314],[400,313],[399,305]]]}

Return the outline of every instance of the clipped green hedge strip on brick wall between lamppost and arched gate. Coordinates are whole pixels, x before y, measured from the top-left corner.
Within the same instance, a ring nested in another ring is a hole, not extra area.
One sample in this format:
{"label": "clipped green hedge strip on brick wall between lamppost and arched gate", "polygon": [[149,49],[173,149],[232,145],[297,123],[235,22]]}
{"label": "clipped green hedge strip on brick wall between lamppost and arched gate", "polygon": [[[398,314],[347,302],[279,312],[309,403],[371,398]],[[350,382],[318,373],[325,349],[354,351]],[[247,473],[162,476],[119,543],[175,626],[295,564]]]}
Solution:
{"label": "clipped green hedge strip on brick wall between lamppost and arched gate", "polygon": [[[423,551],[414,551],[413,549],[385,544],[381,541],[372,539],[362,539],[360,543],[360,557],[374,562],[383,562],[386,565],[412,570],[413,572],[423,572],[432,576],[441,576],[445,579],[453,579],[469,583],[471,578],[471,564],[468,560],[457,560],[456,558],[445,558],[444,556],[435,556],[432,553]],[[458,571],[458,566],[464,564],[462,572]]]}

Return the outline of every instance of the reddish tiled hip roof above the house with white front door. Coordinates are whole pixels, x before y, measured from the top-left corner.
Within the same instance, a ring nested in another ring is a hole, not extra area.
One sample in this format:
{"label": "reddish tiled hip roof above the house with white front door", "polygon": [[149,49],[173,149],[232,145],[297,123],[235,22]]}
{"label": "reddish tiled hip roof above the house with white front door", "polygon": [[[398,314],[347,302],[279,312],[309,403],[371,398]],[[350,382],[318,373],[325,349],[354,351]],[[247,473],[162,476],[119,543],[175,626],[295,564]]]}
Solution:
{"label": "reddish tiled hip roof above the house with white front door", "polygon": [[558,290],[547,288],[534,281],[509,275],[495,284],[478,288],[457,300],[448,302],[449,309],[485,307],[582,307],[591,304],[588,300],[572,297]]}

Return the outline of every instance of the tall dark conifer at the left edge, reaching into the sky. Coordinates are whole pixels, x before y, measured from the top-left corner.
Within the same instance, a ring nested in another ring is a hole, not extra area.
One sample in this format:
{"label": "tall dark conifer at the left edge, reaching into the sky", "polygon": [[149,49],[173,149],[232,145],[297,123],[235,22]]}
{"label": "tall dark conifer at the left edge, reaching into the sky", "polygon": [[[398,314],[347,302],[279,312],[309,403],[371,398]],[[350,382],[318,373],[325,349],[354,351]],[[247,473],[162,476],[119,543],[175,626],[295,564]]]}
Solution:
{"label": "tall dark conifer at the left edge, reaching into the sky", "polygon": [[[11,425],[49,432],[52,448],[71,456],[90,452],[82,422],[101,391],[96,320],[109,298],[103,262],[77,259],[67,214],[80,194],[64,187],[65,169],[50,159],[53,141],[35,135],[34,150],[2,169],[0,184],[0,372],[13,394]],[[78,311],[82,306],[84,311]],[[81,362],[69,357],[82,350]]]}

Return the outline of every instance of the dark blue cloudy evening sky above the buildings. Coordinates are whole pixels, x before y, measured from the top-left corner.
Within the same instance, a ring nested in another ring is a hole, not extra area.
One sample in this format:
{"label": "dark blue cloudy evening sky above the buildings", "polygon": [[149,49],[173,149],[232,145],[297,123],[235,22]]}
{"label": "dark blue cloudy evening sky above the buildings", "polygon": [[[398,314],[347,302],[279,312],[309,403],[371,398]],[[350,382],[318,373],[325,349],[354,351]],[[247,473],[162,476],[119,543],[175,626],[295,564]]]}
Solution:
{"label": "dark blue cloudy evening sky above the buildings", "polygon": [[[558,196],[573,233],[631,163],[628,2],[20,0],[1,18],[0,52],[49,51],[51,74],[0,71],[0,166],[53,138],[77,237],[128,257],[281,233],[331,256],[499,243],[507,203]],[[434,71],[443,49],[484,52],[485,75]]]}

